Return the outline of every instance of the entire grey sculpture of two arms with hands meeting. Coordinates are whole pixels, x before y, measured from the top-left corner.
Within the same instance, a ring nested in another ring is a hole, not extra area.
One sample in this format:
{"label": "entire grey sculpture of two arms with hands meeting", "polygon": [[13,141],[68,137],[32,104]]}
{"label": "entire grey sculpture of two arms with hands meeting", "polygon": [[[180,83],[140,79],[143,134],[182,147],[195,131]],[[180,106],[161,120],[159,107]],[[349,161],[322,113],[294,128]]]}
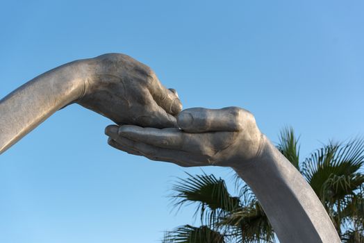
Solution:
{"label": "entire grey sculpture of two arms with hands meeting", "polygon": [[2,99],[0,153],[70,103],[115,121],[106,135],[116,149],[183,167],[232,167],[256,194],[280,242],[340,242],[315,192],[250,112],[236,107],[180,112],[176,92],[122,54],[70,62]]}

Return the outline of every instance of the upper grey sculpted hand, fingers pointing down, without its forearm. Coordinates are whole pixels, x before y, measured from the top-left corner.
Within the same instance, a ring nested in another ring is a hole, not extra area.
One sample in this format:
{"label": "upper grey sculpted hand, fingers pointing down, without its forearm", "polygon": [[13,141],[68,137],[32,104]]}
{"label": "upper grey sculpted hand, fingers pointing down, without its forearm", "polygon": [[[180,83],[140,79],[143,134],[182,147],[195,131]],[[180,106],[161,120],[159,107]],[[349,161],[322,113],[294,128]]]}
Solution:
{"label": "upper grey sculpted hand, fingers pointing down, without its forearm", "polygon": [[156,128],[176,127],[181,102],[147,65],[119,53],[85,60],[88,78],[81,106],[115,121]]}

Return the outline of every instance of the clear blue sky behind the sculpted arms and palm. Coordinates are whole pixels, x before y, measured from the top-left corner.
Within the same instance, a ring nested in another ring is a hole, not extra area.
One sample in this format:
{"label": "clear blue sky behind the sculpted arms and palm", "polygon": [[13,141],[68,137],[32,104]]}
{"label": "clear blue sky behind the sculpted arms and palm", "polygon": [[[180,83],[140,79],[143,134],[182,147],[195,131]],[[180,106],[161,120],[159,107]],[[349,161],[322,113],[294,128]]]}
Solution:
{"label": "clear blue sky behind the sculpted arms and palm", "polygon": [[[364,134],[363,11],[358,0],[2,1],[0,97],[65,62],[126,53],[185,108],[241,106],[274,142],[293,126],[304,157]],[[158,242],[193,223],[193,207],[175,215],[167,195],[200,169],[112,149],[108,124],[70,106],[1,156],[0,242]]]}

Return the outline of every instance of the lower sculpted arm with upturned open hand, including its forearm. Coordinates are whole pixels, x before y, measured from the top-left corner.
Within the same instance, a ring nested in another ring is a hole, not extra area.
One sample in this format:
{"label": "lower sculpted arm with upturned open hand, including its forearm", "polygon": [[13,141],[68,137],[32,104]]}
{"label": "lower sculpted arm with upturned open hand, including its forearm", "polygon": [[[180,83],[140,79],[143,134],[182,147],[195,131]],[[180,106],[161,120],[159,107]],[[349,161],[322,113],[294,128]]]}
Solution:
{"label": "lower sculpted arm with upturned open hand, including its forearm", "polygon": [[299,171],[260,133],[247,110],[192,108],[176,128],[108,126],[117,149],[183,167],[233,167],[263,206],[281,243],[337,243],[329,215]]}

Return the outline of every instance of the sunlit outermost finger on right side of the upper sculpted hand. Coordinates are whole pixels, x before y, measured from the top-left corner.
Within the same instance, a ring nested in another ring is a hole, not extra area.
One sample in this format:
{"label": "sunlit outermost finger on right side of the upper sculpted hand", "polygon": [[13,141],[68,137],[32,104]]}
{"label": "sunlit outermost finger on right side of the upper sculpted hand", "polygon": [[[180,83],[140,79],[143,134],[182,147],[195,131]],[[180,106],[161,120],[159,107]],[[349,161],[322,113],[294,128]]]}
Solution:
{"label": "sunlit outermost finger on right side of the upper sculpted hand", "polygon": [[149,86],[149,92],[153,96],[158,106],[162,107],[167,113],[177,115],[182,110],[182,103],[175,90],[171,91],[164,87],[155,74],[152,74],[153,81]]}

